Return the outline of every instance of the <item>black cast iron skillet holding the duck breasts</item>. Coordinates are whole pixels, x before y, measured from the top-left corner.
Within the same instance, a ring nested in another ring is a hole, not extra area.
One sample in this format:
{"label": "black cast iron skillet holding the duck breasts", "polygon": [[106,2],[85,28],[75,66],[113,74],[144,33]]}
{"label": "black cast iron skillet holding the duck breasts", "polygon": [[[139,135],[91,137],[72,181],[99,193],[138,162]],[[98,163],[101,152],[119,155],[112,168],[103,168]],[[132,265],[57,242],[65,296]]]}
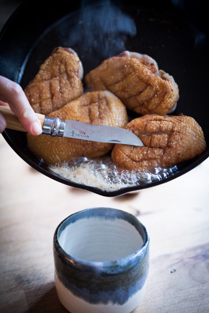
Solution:
{"label": "black cast iron skillet holding the duck breasts", "polygon": [[[200,1],[174,3],[175,6],[168,0],[149,1],[148,5],[144,1],[133,4],[59,0],[53,5],[51,1],[25,1],[0,33],[0,74],[25,88],[56,46],[76,50],[84,66],[84,77],[104,59],[123,50],[148,54],[179,85],[180,99],[173,114],[192,116],[199,123],[208,146],[206,151],[179,164],[176,172],[160,181],[104,192],[97,186],[76,184],[55,174],[29,151],[25,133],[6,129],[3,137],[13,150],[44,175],[103,196],[118,196],[167,182],[206,160],[209,156],[206,13],[199,9]],[[137,116],[129,111],[128,114],[130,120]]]}

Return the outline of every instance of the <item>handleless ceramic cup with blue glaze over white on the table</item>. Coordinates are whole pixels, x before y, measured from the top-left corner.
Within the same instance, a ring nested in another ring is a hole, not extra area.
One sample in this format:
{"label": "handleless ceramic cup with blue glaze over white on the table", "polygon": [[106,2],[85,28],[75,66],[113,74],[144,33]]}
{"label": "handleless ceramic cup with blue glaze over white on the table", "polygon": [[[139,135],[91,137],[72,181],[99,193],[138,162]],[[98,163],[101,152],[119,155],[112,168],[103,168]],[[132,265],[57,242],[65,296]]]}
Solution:
{"label": "handleless ceramic cup with blue glaze over white on the table", "polygon": [[89,208],[54,234],[55,287],[71,313],[130,313],[142,300],[149,235],[132,214]]}

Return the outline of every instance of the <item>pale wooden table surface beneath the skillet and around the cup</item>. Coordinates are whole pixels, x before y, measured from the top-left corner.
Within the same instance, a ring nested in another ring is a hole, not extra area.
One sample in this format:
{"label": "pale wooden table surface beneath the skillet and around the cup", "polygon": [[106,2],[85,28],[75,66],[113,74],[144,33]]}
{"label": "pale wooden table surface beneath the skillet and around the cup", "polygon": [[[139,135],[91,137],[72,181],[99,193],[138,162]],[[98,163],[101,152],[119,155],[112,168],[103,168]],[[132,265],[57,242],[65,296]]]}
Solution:
{"label": "pale wooden table surface beneath the skillet and around the cup", "polygon": [[146,293],[134,313],[209,312],[209,159],[170,182],[115,198],[35,171],[2,135],[0,160],[1,313],[67,312],[54,285],[55,228],[71,213],[101,206],[136,215],[150,235]]}

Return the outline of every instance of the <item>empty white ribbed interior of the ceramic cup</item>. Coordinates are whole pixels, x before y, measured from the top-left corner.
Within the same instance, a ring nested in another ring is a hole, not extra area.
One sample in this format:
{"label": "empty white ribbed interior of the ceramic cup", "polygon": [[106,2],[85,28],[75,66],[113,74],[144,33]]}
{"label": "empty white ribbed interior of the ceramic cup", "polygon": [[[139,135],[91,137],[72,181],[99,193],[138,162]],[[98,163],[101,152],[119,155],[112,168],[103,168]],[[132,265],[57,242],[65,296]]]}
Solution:
{"label": "empty white ribbed interior of the ceramic cup", "polygon": [[76,259],[107,262],[136,252],[144,240],[138,230],[121,218],[82,218],[58,233],[66,254]]}

